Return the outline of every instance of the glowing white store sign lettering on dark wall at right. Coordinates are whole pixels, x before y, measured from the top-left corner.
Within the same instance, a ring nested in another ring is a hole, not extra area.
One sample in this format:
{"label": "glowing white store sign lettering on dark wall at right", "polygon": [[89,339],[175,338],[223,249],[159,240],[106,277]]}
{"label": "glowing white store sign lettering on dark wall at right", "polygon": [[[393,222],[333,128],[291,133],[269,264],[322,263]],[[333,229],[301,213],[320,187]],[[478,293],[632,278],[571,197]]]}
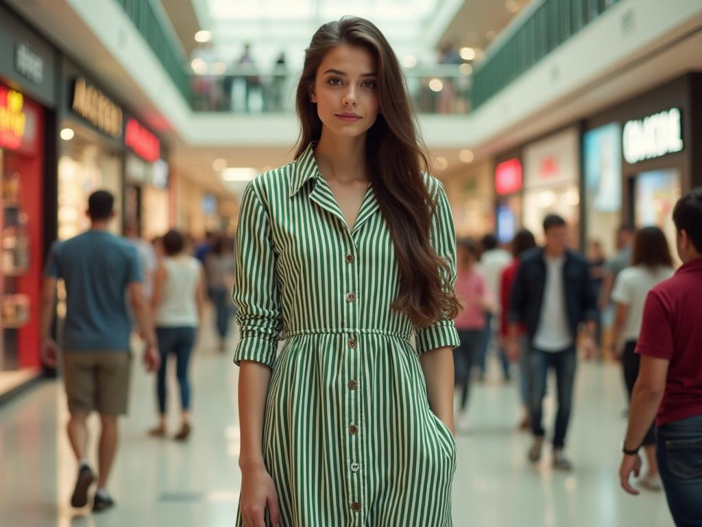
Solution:
{"label": "glowing white store sign lettering on dark wall at right", "polygon": [[626,162],[634,164],[680,152],[683,146],[680,120],[680,110],[672,108],[627,122],[622,136]]}

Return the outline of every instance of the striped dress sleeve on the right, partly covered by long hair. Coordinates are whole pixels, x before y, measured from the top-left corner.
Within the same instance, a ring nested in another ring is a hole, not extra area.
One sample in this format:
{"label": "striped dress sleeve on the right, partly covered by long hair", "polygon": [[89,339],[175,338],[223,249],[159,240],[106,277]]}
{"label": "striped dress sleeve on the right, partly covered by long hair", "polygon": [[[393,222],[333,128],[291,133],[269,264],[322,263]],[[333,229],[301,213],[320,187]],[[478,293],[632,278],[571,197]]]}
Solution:
{"label": "striped dress sleeve on the right, partly covered by long hair", "polygon": [[[441,271],[442,283],[452,290],[456,284],[456,229],[453,227],[451,206],[444,186],[436,179],[430,178],[430,181],[435,184],[432,195],[436,201],[430,232],[431,244],[439,257],[448,264],[448,274],[443,268]],[[453,319],[446,317],[430,326],[416,328],[415,338],[417,351],[420,354],[444,346],[456,348],[460,344]]]}

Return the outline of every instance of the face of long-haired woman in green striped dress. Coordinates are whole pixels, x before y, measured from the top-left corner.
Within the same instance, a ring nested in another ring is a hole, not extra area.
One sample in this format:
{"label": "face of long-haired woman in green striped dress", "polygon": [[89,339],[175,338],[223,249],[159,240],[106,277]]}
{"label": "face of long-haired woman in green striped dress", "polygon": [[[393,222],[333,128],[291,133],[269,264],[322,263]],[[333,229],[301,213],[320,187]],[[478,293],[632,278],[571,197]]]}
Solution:
{"label": "face of long-haired woman in green striped dress", "polygon": [[326,53],[317,69],[310,99],[333,134],[365,134],[378,117],[376,60],[365,48],[341,44]]}

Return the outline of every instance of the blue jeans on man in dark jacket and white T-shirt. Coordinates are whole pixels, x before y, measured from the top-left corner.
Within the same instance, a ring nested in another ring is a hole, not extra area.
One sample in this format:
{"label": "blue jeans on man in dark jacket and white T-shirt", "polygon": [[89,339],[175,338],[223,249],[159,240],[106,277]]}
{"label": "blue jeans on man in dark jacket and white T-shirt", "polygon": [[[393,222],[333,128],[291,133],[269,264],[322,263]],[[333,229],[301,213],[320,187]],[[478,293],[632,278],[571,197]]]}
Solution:
{"label": "blue jeans on man in dark jacket and white T-shirt", "polygon": [[556,352],[541,351],[532,347],[528,353],[531,432],[536,437],[545,436],[545,431],[541,424],[543,419],[543,396],[546,393],[548,369],[552,367],[556,372],[558,389],[558,411],[553,431],[553,446],[554,448],[563,448],[573,400],[573,384],[575,382],[577,362],[575,347]]}

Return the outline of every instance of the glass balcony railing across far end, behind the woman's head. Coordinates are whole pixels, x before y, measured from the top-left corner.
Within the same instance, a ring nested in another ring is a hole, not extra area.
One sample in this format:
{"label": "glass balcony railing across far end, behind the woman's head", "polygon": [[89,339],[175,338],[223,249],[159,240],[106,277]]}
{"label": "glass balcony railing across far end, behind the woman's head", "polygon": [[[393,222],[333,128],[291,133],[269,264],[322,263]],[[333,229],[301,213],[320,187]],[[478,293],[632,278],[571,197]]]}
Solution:
{"label": "glass balcony railing across far end, behind the woman's head", "polygon": [[[221,63],[219,63],[221,65]],[[197,65],[201,68],[206,66]],[[299,72],[285,67],[194,74],[192,108],[197,112],[269,113],[293,112]],[[214,70],[214,71],[213,71]],[[418,112],[466,114],[470,112],[472,77],[459,65],[413,67],[404,70],[407,89]]]}

